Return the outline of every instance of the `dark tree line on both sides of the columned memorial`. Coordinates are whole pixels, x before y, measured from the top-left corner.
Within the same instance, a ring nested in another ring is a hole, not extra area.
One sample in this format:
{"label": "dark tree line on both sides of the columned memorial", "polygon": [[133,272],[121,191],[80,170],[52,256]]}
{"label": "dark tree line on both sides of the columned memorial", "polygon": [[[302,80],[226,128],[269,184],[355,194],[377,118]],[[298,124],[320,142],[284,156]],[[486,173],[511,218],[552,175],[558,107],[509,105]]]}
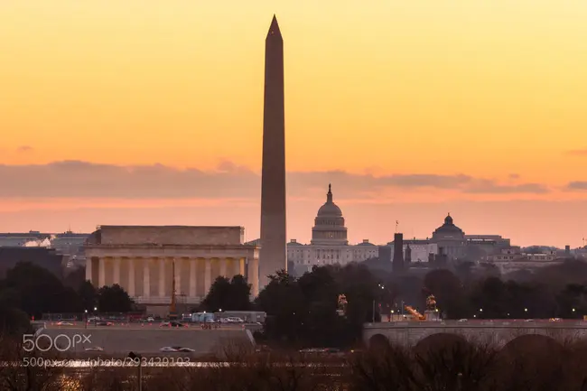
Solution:
{"label": "dark tree line on both sides of the columned memorial", "polygon": [[[281,271],[255,301],[242,275],[217,278],[191,311],[264,311],[257,335],[268,343],[349,348],[359,343],[365,322],[386,319],[408,304],[424,311],[433,294],[445,319],[580,319],[587,314],[587,263],[569,260],[534,274],[501,276],[466,263],[445,269],[382,273],[365,264],[314,267],[300,277]],[[340,294],[347,305],[341,313]],[[26,324],[46,312],[128,312],[136,309],[118,285],[98,290],[88,281],[68,286],[42,267],[17,264],[0,280],[0,321]],[[9,321],[13,320],[13,321]]]}

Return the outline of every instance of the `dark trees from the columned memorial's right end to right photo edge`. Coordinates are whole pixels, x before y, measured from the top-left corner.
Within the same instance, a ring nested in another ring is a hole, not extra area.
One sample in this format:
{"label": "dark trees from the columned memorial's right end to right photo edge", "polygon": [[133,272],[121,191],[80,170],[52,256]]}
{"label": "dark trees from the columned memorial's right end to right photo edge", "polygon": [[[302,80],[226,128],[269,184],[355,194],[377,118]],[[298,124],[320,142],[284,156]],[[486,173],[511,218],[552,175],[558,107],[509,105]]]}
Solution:
{"label": "dark trees from the columned memorial's right end to right photo edge", "polygon": [[[385,320],[405,305],[424,312],[430,294],[444,319],[581,319],[587,314],[587,263],[569,260],[535,274],[505,276],[494,269],[474,272],[470,266],[449,265],[422,276],[385,274],[362,264],[314,267],[300,277],[282,271],[270,276],[254,303],[247,302],[250,288],[244,280],[238,280],[243,288],[235,291],[219,277],[200,309],[264,311],[260,340],[338,348],[357,345],[365,322]],[[348,302],[342,316],[340,294]]]}

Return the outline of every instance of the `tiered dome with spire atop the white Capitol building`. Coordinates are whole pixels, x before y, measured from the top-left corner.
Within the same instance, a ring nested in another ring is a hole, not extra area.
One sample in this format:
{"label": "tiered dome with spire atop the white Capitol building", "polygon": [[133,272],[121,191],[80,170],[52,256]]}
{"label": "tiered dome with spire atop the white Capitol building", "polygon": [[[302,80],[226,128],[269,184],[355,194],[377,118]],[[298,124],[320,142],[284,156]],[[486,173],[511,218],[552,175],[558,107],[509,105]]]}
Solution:
{"label": "tiered dome with spire atop the white Capitol building", "polygon": [[331,185],[328,185],[326,203],[320,209],[312,228],[314,245],[348,245],[347,228],[344,226],[342,210],[332,201]]}

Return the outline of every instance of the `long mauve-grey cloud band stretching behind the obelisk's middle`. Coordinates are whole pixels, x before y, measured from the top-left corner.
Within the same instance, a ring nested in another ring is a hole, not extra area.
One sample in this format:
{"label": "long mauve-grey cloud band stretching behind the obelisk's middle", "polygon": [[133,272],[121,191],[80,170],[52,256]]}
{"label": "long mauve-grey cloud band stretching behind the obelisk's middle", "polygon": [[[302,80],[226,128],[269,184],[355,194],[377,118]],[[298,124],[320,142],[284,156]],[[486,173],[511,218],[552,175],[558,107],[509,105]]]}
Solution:
{"label": "long mauve-grey cloud band stretching behind the obelisk's middle", "polygon": [[[540,183],[502,184],[458,173],[375,176],[343,171],[288,172],[288,194],[305,197],[309,191],[333,184],[338,199],[377,196],[387,189],[457,191],[463,194],[543,194]],[[118,166],[81,161],[36,165],[0,165],[0,197],[88,199],[258,199],[260,175],[231,162],[216,170],[176,169],[162,164]]]}

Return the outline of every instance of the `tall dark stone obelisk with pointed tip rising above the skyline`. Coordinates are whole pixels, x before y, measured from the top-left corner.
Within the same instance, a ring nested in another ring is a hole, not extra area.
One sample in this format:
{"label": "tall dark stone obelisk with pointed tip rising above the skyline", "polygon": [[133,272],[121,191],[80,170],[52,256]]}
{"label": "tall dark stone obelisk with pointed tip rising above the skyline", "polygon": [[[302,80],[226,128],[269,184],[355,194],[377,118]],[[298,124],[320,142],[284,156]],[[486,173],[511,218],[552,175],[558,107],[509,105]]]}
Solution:
{"label": "tall dark stone obelisk with pointed tip rising above the skyline", "polygon": [[263,170],[261,177],[261,251],[259,286],[267,275],[287,270],[285,236],[284,40],[273,16],[265,41]]}

